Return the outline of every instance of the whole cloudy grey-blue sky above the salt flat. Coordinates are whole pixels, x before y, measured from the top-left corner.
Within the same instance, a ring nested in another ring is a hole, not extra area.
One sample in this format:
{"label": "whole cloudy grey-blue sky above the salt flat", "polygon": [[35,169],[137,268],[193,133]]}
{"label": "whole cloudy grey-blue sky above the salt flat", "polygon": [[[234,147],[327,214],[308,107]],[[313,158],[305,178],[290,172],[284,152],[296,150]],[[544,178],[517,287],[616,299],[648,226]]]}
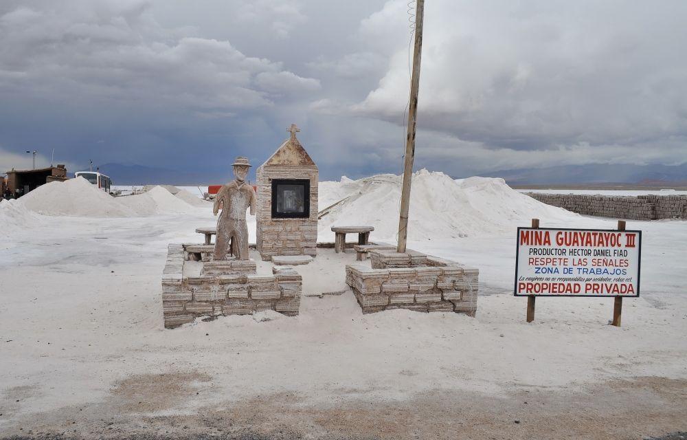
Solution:
{"label": "whole cloudy grey-blue sky above the salt flat", "polygon": [[[0,168],[401,173],[407,0],[2,0]],[[427,0],[416,168],[687,162],[687,1]],[[116,181],[116,176],[113,176]],[[143,183],[143,182],[142,182]]]}

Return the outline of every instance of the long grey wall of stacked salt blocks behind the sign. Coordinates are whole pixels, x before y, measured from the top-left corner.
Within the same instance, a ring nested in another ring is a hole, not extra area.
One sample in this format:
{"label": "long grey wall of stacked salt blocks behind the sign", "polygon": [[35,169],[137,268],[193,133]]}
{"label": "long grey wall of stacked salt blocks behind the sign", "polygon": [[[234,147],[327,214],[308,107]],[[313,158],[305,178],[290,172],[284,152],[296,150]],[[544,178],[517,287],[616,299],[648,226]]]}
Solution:
{"label": "long grey wall of stacked salt blocks behind the sign", "polygon": [[687,195],[605,196],[528,192],[533,199],[578,214],[613,219],[687,219]]}

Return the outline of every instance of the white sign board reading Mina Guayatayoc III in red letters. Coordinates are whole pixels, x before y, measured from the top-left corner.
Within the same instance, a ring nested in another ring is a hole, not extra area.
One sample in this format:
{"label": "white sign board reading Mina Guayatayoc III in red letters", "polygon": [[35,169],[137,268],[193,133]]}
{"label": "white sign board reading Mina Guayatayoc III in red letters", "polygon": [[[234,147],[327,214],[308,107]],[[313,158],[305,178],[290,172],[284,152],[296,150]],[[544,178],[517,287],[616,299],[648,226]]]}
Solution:
{"label": "white sign board reading Mina Guayatayoc III in red letters", "polygon": [[515,296],[639,296],[642,231],[518,228]]}

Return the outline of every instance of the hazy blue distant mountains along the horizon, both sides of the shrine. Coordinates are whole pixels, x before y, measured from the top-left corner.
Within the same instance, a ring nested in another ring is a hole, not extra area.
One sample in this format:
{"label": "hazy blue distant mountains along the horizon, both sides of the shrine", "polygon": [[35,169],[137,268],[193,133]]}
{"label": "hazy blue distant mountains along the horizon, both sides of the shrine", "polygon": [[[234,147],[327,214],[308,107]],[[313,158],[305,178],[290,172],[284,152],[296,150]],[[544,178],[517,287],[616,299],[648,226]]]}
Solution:
{"label": "hazy blue distant mountains along the horizon, both sides of the shrine", "polygon": [[[231,170],[204,172],[180,171],[143,165],[104,164],[102,173],[109,175],[115,185],[170,184],[179,186],[221,184],[230,178]],[[655,188],[687,187],[687,164],[669,165],[611,165],[549,166],[519,168],[480,173],[483,177],[502,177],[510,186],[593,186],[598,188],[646,186]],[[455,176],[470,177],[470,176]]]}

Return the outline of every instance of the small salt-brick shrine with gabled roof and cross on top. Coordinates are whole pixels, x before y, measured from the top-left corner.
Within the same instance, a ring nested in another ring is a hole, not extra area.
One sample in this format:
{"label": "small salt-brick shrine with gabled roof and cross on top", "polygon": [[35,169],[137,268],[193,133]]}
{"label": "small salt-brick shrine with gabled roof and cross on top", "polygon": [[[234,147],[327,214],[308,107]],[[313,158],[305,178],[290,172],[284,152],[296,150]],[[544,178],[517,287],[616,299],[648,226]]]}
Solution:
{"label": "small salt-brick shrine with gabled roof and cross on top", "polygon": [[258,167],[257,246],[262,260],[275,255],[317,255],[319,171],[291,124],[285,140]]}

